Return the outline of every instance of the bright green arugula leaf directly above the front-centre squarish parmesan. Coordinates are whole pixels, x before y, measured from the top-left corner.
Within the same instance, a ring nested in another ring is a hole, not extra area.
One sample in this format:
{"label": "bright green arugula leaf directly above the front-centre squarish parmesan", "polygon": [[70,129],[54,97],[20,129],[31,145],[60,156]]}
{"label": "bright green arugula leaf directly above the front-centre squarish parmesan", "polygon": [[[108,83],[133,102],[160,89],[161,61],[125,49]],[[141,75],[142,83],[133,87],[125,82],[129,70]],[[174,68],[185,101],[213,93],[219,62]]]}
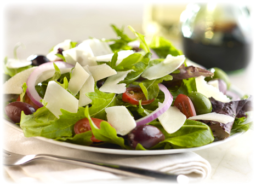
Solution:
{"label": "bright green arugula leaf directly above the front-centre squarish parmesan", "polygon": [[116,94],[107,94],[95,88],[94,92],[86,95],[92,100],[92,107],[89,108],[91,117],[106,120],[105,108],[116,106]]}

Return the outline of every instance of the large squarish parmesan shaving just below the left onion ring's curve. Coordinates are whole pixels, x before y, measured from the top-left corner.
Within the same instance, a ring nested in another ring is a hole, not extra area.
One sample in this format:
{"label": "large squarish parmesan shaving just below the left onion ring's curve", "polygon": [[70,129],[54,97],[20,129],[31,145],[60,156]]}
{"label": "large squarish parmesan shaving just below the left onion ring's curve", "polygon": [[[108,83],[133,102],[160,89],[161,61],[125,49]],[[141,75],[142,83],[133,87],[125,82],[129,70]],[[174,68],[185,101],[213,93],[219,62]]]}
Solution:
{"label": "large squarish parmesan shaving just below the left onion ring's curve", "polygon": [[[58,96],[56,96],[57,92]],[[43,100],[47,102],[45,107],[57,118],[62,114],[60,109],[72,113],[76,113],[78,110],[77,98],[54,81],[48,83]]]}

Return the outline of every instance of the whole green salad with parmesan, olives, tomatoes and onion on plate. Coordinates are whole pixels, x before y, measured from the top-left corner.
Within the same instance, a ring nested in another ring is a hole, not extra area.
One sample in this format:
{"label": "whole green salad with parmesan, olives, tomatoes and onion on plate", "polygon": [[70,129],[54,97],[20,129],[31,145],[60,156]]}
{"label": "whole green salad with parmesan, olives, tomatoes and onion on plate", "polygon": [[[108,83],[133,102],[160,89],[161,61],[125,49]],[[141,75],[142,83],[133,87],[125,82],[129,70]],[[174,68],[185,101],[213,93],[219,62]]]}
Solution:
{"label": "whole green salad with parmesan, olives, tomatoes and onion on plate", "polygon": [[127,150],[200,147],[247,131],[252,96],[186,59],[166,38],[70,39],[47,55],[4,59],[5,117],[25,137]]}

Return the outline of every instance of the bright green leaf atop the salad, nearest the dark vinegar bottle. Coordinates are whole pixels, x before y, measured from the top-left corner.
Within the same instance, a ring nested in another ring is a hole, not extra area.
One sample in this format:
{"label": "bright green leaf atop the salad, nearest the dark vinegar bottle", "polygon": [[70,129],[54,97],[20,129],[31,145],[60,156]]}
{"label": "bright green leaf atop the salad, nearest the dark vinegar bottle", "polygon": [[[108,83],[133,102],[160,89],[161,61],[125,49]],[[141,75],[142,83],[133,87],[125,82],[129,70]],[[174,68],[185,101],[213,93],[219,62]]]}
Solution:
{"label": "bright green leaf atop the salad, nearest the dark vinegar bottle", "polygon": [[176,49],[168,39],[161,36],[154,36],[149,46],[160,58],[163,59],[165,59],[168,54],[172,56],[183,54],[182,51]]}

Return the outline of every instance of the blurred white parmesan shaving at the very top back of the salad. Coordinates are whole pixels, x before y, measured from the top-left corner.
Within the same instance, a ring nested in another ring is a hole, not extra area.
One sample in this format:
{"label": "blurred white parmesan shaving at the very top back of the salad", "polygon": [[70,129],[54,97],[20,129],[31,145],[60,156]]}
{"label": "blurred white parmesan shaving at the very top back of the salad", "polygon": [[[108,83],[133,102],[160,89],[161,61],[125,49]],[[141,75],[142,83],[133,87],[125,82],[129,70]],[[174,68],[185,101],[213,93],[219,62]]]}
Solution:
{"label": "blurred white parmesan shaving at the very top back of the salad", "polygon": [[89,45],[92,49],[94,56],[102,56],[113,53],[110,46],[106,42],[101,42],[99,39],[87,39],[84,40],[78,47],[83,47],[84,45]]}

